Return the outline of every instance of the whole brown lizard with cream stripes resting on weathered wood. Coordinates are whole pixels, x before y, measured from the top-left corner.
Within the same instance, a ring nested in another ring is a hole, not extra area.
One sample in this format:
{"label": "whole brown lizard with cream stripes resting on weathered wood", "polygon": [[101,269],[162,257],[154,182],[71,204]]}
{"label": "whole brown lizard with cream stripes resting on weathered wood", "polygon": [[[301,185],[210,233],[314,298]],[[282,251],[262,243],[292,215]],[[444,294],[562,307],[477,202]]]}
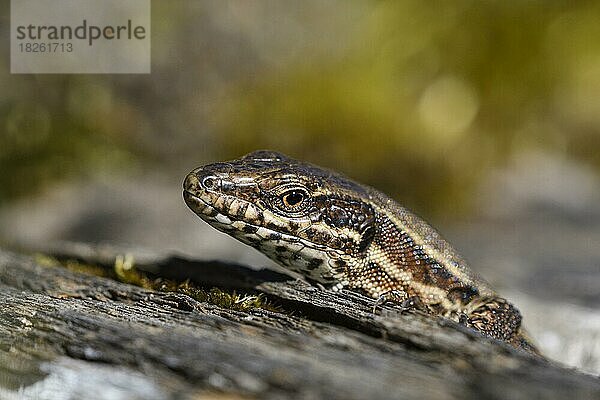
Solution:
{"label": "whole brown lizard with cream stripes resting on weathered wood", "polygon": [[259,150],[191,171],[187,206],[311,283],[440,315],[539,354],[521,314],[429,224],[334,171]]}

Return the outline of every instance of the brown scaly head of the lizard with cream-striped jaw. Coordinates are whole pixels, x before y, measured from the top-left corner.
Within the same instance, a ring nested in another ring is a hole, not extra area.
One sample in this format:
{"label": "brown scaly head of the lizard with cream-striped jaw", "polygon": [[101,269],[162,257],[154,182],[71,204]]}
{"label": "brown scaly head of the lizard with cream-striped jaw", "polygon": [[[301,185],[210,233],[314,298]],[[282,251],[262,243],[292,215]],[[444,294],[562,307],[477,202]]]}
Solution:
{"label": "brown scaly head of the lizard with cream-striped jaw", "polygon": [[345,284],[375,233],[367,188],[272,151],[196,168],[183,189],[188,207],[214,228],[332,286]]}

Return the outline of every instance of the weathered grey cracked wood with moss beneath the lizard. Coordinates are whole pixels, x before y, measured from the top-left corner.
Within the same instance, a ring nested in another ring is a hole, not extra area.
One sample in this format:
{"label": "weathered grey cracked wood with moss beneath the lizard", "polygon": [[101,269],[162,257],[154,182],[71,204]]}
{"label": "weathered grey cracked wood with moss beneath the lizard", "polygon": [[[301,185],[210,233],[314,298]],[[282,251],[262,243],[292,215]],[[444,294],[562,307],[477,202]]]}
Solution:
{"label": "weathered grey cracked wood with moss beneath the lizard", "polygon": [[[110,266],[117,251],[65,247]],[[265,293],[286,313],[38,265],[0,252],[0,399],[203,395],[339,399],[599,399],[600,380],[483,338],[273,271],[176,257],[139,269],[207,288]]]}

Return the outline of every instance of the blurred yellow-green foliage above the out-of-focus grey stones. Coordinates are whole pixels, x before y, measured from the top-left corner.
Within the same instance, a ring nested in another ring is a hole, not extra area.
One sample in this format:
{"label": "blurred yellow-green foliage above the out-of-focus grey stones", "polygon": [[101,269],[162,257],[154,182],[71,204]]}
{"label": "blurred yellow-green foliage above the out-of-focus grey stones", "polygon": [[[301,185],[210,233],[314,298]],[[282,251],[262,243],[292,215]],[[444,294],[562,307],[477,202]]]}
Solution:
{"label": "blurred yellow-green foliage above the out-of-focus grey stones", "polygon": [[1,64],[0,202],[269,148],[469,212],[517,153],[600,168],[599,20],[597,1],[154,2],[151,75]]}

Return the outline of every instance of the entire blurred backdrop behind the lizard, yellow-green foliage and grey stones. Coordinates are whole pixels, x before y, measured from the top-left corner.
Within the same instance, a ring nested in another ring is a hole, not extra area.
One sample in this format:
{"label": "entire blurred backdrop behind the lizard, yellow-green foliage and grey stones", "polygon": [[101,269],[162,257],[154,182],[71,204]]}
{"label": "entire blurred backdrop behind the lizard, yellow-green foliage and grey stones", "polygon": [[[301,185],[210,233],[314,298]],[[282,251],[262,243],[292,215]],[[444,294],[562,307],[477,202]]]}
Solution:
{"label": "entire blurred backdrop behind the lizard, yellow-green foliage and grey stones", "polygon": [[545,354],[598,373],[599,21],[598,1],[153,1],[149,75],[0,63],[0,245],[269,265],[181,182],[278,150],[424,216]]}

